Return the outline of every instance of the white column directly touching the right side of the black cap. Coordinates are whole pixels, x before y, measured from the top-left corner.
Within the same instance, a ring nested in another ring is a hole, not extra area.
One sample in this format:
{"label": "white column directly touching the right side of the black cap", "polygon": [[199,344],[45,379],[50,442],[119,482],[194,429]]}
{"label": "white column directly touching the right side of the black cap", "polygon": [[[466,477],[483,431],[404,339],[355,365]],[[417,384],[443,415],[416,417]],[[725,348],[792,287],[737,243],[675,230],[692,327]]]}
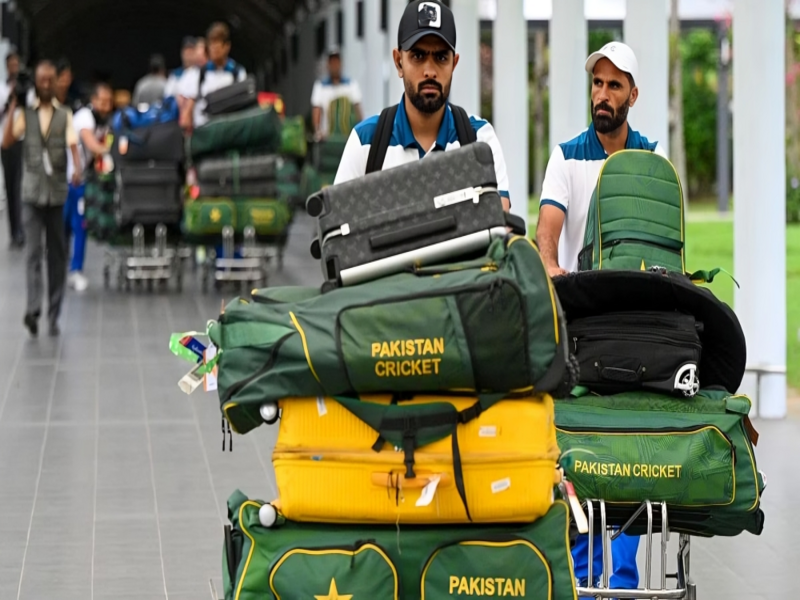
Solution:
{"label": "white column directly touching the right side of the black cap", "polygon": [[481,110],[481,38],[478,0],[451,0],[456,21],[456,52],[460,55],[450,99],[467,113]]}

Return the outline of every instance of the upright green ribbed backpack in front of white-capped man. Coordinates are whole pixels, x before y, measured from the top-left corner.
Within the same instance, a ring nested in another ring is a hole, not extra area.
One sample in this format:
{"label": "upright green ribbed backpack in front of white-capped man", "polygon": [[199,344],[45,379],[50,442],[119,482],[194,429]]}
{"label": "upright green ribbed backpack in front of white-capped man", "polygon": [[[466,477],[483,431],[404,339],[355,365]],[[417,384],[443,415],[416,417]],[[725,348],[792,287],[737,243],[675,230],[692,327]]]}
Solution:
{"label": "upright green ribbed backpack in front of white-capped man", "polygon": [[686,271],[683,191],[666,158],[622,150],[606,160],[589,204],[581,271]]}

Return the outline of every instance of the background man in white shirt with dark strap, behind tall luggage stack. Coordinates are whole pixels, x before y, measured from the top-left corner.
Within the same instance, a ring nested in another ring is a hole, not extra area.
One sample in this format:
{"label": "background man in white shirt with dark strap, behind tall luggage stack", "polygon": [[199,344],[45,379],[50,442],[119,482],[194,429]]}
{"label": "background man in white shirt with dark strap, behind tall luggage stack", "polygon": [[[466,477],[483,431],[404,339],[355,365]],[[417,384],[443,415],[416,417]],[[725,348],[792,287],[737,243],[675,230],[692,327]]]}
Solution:
{"label": "background man in white shirt with dark strap, behind tall luggage stack", "polygon": [[209,61],[202,67],[189,69],[181,79],[182,101],[181,127],[191,132],[208,122],[205,114],[206,96],[237,81],[244,81],[244,67],[230,58],[231,31],[221,22],[208,29]]}

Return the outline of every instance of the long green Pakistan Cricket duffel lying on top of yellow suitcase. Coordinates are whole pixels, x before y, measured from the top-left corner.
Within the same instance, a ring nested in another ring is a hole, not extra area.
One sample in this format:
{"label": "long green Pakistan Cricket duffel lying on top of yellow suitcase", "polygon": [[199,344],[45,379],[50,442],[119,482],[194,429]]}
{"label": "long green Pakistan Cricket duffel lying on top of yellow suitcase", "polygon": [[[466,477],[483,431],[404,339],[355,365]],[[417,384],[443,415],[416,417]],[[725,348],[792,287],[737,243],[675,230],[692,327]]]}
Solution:
{"label": "long green Pakistan Cricket duffel lying on top of yellow suitcase", "polygon": [[[554,392],[567,379],[561,306],[530,240],[299,302],[234,300],[209,336],[231,427],[265,402],[358,393]],[[569,388],[568,388],[569,389]]]}

